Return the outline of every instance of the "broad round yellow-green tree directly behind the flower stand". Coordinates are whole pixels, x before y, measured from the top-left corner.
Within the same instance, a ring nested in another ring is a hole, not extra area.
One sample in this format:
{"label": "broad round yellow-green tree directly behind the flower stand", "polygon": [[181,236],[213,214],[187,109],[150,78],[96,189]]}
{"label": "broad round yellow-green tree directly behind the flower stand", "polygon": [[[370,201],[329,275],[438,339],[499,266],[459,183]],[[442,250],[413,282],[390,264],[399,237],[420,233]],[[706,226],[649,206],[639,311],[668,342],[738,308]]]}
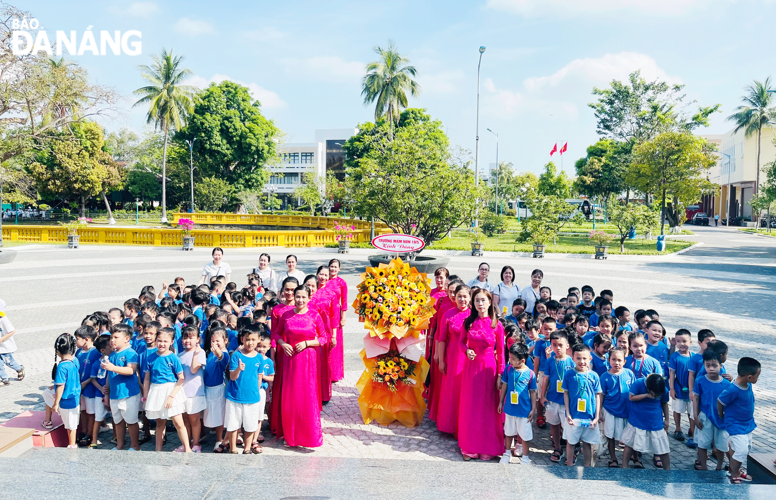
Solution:
{"label": "broad round yellow-green tree directly behind the flower stand", "polygon": [[474,185],[469,163],[455,162],[442,122],[397,127],[393,140],[386,126],[356,139],[367,151],[353,160],[345,178],[356,213],[420,236],[427,245],[472,220],[485,188]]}

